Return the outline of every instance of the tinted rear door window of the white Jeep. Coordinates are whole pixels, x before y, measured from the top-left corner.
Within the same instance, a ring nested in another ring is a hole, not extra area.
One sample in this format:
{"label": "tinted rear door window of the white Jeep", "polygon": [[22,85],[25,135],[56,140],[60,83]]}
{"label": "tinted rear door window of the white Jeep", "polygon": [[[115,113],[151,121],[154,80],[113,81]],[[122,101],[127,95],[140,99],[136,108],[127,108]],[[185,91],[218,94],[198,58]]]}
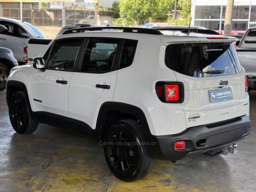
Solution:
{"label": "tinted rear door window of the white Jeep", "polygon": [[81,71],[110,71],[118,43],[119,40],[116,39],[90,39],[85,51]]}

